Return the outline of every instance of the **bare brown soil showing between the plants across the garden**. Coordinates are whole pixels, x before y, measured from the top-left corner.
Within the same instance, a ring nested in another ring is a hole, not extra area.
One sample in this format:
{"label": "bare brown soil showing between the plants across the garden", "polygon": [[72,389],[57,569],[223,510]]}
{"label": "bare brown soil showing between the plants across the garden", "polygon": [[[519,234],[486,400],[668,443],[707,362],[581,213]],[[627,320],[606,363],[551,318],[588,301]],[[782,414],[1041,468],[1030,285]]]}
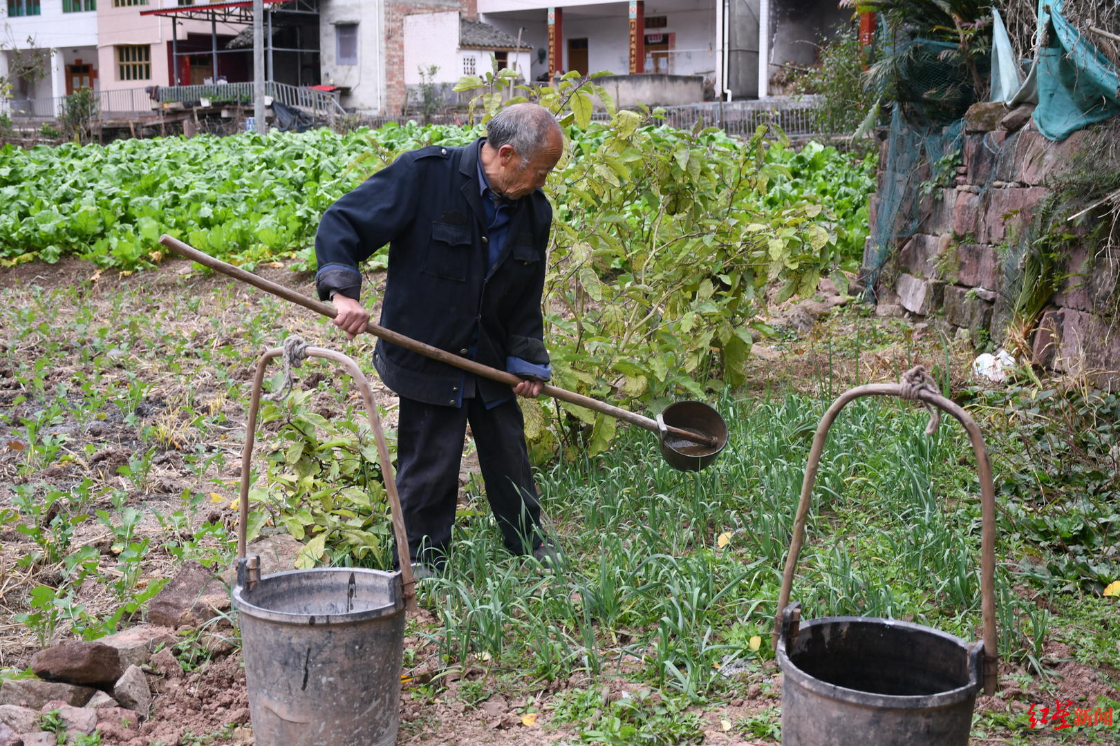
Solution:
{"label": "bare brown soil showing between the plants across the garden", "polygon": [[[304,293],[310,294],[312,291],[311,278],[307,274],[295,274],[280,266],[262,266],[258,268],[258,273]],[[213,331],[214,328],[237,329],[240,314],[246,310],[259,310],[265,302],[260,291],[220,275],[190,272],[185,262],[166,262],[155,271],[132,275],[101,273],[90,263],[77,259],[65,259],[53,266],[30,264],[0,270],[0,287],[8,289],[4,298],[9,302],[38,308],[40,313],[50,318],[39,338],[30,336],[20,343],[16,343],[11,336],[0,330],[0,509],[10,507],[18,484],[28,479],[20,475],[19,470],[25,454],[10,445],[19,442],[20,416],[26,416],[30,406],[27,403],[15,404],[24,391],[12,375],[13,361],[38,359],[43,355],[47,339],[56,341],[62,339],[62,349],[66,355],[62,359],[50,360],[53,367],[50,379],[56,384],[60,381],[75,384],[90,374],[87,368],[76,362],[76,356],[71,355],[84,343],[83,338],[69,327],[74,308],[66,302],[50,309],[39,308],[41,301],[37,299],[40,298],[40,293],[32,290],[35,286],[44,291],[81,289],[80,295],[75,295],[72,302],[77,302],[81,298],[84,303],[96,304],[100,309],[97,315],[104,320],[111,320],[121,313],[149,312],[155,318],[158,313],[166,312],[161,321],[164,327],[170,328],[174,334],[194,340],[197,344],[234,343],[244,349],[263,346],[253,340],[233,337],[215,339]],[[122,289],[132,289],[134,295],[130,298],[144,299],[142,303],[146,305],[131,309],[114,305],[114,299],[119,298]],[[169,304],[181,302],[186,295],[200,299],[197,311],[176,313],[175,308],[169,308]],[[277,305],[277,315],[272,320],[272,327],[277,330],[288,329],[304,336],[310,343],[345,349],[355,357],[365,356],[367,359],[372,353],[373,340],[370,338],[344,346],[342,336],[334,333],[327,322],[310,312],[288,304]],[[788,309],[780,311],[787,313]],[[216,327],[212,327],[214,319],[218,320]],[[875,334],[875,328],[884,324],[907,328],[909,331],[905,334],[906,341],[886,348],[869,343],[869,348],[875,347],[874,350],[847,359],[834,355],[829,344],[829,339],[843,334],[850,337],[864,333],[870,340]],[[236,334],[236,332],[228,333]],[[831,325],[822,320],[818,320],[816,323],[812,323],[811,320],[805,332],[795,339],[786,338],[785,342],[757,346],[749,389],[753,393],[782,390],[783,387],[788,388],[791,381],[794,384],[800,381],[805,388],[811,388],[827,379],[821,375],[822,370],[832,370],[834,385],[839,391],[857,378],[857,366],[859,378],[865,383],[876,379],[897,380],[898,374],[906,370],[913,361],[913,343],[920,342],[924,334],[933,333],[934,330],[927,327],[915,327],[903,320],[880,320],[868,315],[850,315],[847,320]],[[277,339],[278,337],[273,337],[265,342],[276,344]],[[116,371],[116,378],[124,381],[128,372],[129,370],[122,365]],[[144,400],[138,404],[136,414],[143,423],[164,423],[171,431],[177,423],[167,422],[166,417],[168,413],[178,412],[181,403],[188,400],[196,404],[205,403],[211,397],[220,396],[221,386],[212,370],[199,368],[188,370],[185,375],[160,369],[159,366],[144,365],[133,369],[133,372],[151,384]],[[244,381],[248,389],[250,367],[230,372],[232,377]],[[385,424],[392,427],[393,397],[377,381],[372,384],[379,405],[388,408],[390,413]],[[187,469],[181,447],[168,447],[153,460],[152,471],[144,489],[137,490],[124,480],[119,480],[121,489],[128,491],[124,504],[142,508],[146,511],[144,521],[138,529],[141,533],[161,536],[162,529],[151,519],[151,511],[169,511],[186,489],[209,492],[215,483],[223,483],[227,492],[233,489],[232,485],[236,483],[240,474],[237,462],[245,413],[236,403],[226,402],[222,406],[227,408],[228,437],[222,435],[216,442],[203,445],[212,452],[223,452],[223,466],[215,465],[209,472],[198,475]],[[330,403],[324,402],[323,406],[329,407]],[[183,416],[186,417],[186,414]],[[127,422],[118,409],[106,410],[103,419],[91,424],[78,426],[74,423],[62,423],[57,428],[58,433],[67,435],[67,447],[75,457],[65,464],[52,465],[31,478],[47,488],[72,490],[82,480],[94,480],[99,483],[114,482],[119,479],[115,476],[116,469],[128,464],[130,456],[142,445],[137,424]],[[4,447],[3,444],[9,446]],[[84,448],[86,445],[94,447],[86,450]],[[184,445],[197,444],[180,444]],[[92,453],[86,455],[88,451]],[[469,471],[470,465],[465,465],[464,479]],[[109,507],[94,506],[94,508]],[[232,526],[233,518],[230,513],[222,513],[217,509],[203,513],[202,519],[222,520]],[[75,546],[87,544],[97,547],[102,553],[108,553],[112,535],[103,525],[88,521],[78,527],[74,542]],[[0,580],[0,610],[2,610],[0,668],[25,668],[30,655],[40,646],[26,626],[12,617],[19,612],[27,611],[25,599],[29,587],[50,585],[60,577],[59,564],[19,566],[18,560],[32,548],[34,544],[26,536],[0,526],[0,568],[3,570]],[[152,559],[144,565],[144,575],[149,582],[169,577],[174,572],[175,560],[166,551],[153,553]],[[97,610],[108,606],[113,599],[102,585],[87,583],[80,589],[75,601],[91,610]],[[417,623],[422,625],[426,622],[435,623],[435,620],[429,612],[421,611]],[[56,636],[63,635],[64,632],[60,631]],[[424,682],[426,677],[430,679],[432,672],[438,670],[437,653],[431,643],[424,642],[416,634],[409,636],[405,643],[414,652],[417,662],[404,671],[409,681],[404,684],[401,697],[401,730],[398,744],[535,746],[566,740],[579,742],[579,731],[573,727],[557,727],[552,723],[548,701],[558,691],[586,688],[589,680],[573,677],[567,681],[553,682],[548,688],[531,695],[519,692],[510,698],[492,695],[483,701],[468,705],[459,696],[460,690],[464,683],[484,676],[482,670],[468,670],[444,677],[446,688],[439,691],[424,688],[420,684]],[[130,746],[157,743],[165,746],[252,744],[252,733],[248,727],[248,700],[240,651],[234,650],[233,645],[217,644],[213,648],[208,651],[208,662],[183,677],[171,677],[160,682],[153,700],[152,716],[148,723],[134,731],[105,734],[103,743]],[[1109,683],[1110,680],[1114,681],[1120,677],[1120,671],[1100,671],[1079,663],[1072,660],[1068,646],[1061,642],[1049,644],[1047,659],[1054,661],[1053,669],[1061,682],[1058,689],[1063,699],[1085,698],[1086,701],[1092,701],[1098,696],[1120,699],[1120,691]],[[781,674],[773,663],[766,664],[749,677],[750,683],[744,687],[745,696],[701,712],[706,728],[703,739],[706,745],[741,746],[774,743],[765,738],[744,740],[741,736],[727,733],[725,729],[728,721],[736,721],[766,708],[780,706]],[[605,700],[617,698],[634,688],[635,684],[627,682],[623,677],[607,679]],[[534,701],[543,700],[545,706],[536,720],[526,725],[522,715],[529,696],[533,696]],[[1025,715],[1032,702],[1052,703],[1053,699],[1053,688],[1043,688],[1038,679],[1026,676],[1021,669],[1008,668],[1001,678],[1000,693],[996,697],[981,697],[978,701],[978,711],[1005,714],[1008,718],[1015,718]],[[1120,728],[1117,728],[1116,733],[1120,734]],[[1007,734],[1005,730],[998,737],[976,739],[972,743],[983,745],[1018,743],[1010,739]],[[1033,743],[1046,744],[1053,740],[1052,731],[1047,729],[1033,731],[1030,735],[1035,736],[1032,738]],[[1058,742],[1053,740],[1053,743]],[[1117,743],[1120,743],[1120,739]]]}

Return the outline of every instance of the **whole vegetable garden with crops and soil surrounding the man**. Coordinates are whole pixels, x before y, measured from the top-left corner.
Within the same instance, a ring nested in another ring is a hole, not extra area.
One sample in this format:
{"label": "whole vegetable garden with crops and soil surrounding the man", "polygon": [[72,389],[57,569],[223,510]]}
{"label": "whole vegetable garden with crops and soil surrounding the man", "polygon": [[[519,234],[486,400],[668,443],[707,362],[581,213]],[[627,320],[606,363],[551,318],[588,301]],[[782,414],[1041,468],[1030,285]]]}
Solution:
{"label": "whole vegetable garden with crops and soil surrounding the man", "polygon": [[[1114,499],[1099,497],[1120,436],[1101,413],[1116,397],[1029,378],[968,387],[968,350],[853,302],[805,336],[772,327],[767,303],[812,296],[822,276],[847,294],[874,159],[637,115],[585,124],[567,124],[570,153],[548,187],[557,381],[653,412],[681,393],[707,398],[731,425],[729,445],[707,471],[679,473],[633,428],[529,403],[542,506],[569,566],[505,555],[465,474],[450,569],[419,586],[409,623],[402,743],[774,743],[768,633],[812,429],[849,384],[896,379],[915,361],[981,422],[1002,485],[1005,693],[981,702],[974,743],[1114,743],[1104,727],[1037,738],[1028,708],[1120,699],[1116,604],[1101,595],[1118,519]],[[309,244],[334,199],[403,150],[477,135],[405,125],[0,151],[4,679],[26,678],[41,644],[142,621],[185,563],[230,566],[262,348],[298,333],[373,377],[368,338],[345,344],[325,322],[169,262],[155,238],[307,292]],[[382,262],[366,267],[374,301]],[[775,355],[759,357],[762,342]],[[745,393],[764,378],[773,390]],[[323,363],[297,379],[262,410],[251,533],[299,542],[299,566],[386,567],[361,404]],[[380,400],[391,423],[392,400]],[[806,616],[893,616],[978,638],[974,469],[960,431],[924,426],[924,414],[885,402],[841,417],[794,586]],[[185,625],[167,648],[199,705],[184,705],[165,673],[148,723],[84,743],[249,743],[241,705],[220,703],[243,691],[236,643],[228,612]]]}

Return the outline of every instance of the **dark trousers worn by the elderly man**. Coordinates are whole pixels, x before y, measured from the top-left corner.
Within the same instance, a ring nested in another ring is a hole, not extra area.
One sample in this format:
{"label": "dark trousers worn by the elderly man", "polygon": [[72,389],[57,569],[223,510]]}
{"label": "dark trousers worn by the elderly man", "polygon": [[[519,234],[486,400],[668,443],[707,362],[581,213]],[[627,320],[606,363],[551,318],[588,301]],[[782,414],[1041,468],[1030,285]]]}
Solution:
{"label": "dark trousers worn by the elderly man", "polygon": [[505,548],[521,555],[541,544],[541,507],[517,403],[511,399],[487,409],[477,396],[464,399],[461,407],[401,397],[396,487],[413,561],[437,566],[446,561],[467,422]]}

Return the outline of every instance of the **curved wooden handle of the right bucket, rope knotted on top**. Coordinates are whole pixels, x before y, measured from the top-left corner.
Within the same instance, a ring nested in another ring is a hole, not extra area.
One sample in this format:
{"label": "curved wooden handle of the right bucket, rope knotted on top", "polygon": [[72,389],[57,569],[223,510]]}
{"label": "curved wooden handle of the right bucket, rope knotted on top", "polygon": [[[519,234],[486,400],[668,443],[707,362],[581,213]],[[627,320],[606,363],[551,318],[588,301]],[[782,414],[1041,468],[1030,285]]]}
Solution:
{"label": "curved wooden handle of the right bucket, rope knotted on top", "polygon": [[[904,380],[913,375],[925,375],[925,369],[918,366],[904,376]],[[983,616],[983,690],[986,695],[996,691],[998,680],[998,658],[996,650],[996,488],[991,481],[991,464],[988,461],[988,450],[984,447],[983,436],[976,421],[962,407],[945,398],[941,394],[930,388],[907,386],[905,384],[868,384],[857,386],[844,391],[832,403],[828,412],[816,426],[816,434],[813,436],[813,447],[809,453],[809,463],[805,466],[805,479],[801,485],[801,501],[797,503],[797,512],[793,522],[793,538],[790,542],[790,554],[786,556],[785,570],[782,574],[782,593],[777,601],[777,614],[774,620],[774,633],[771,638],[772,645],[777,645],[778,632],[782,626],[782,610],[790,603],[790,592],[793,586],[793,573],[797,566],[797,556],[805,541],[805,519],[809,516],[809,504],[813,494],[813,484],[816,480],[816,469],[820,465],[821,453],[824,451],[824,442],[828,440],[829,428],[836,421],[837,415],[850,402],[862,396],[897,396],[904,399],[915,399],[926,405],[937,407],[948,412],[956,418],[969,434],[972,441],[972,451],[977,460],[977,475],[980,479],[980,500],[983,527],[981,532],[980,547],[980,611]],[[932,423],[931,423],[932,424]]]}

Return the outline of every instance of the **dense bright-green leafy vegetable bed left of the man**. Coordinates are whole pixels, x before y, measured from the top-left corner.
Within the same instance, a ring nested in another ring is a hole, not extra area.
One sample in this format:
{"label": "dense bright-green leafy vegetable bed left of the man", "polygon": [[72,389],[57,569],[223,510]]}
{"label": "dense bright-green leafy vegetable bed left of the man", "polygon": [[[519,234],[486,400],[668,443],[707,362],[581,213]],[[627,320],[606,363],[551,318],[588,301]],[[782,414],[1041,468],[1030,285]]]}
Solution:
{"label": "dense bright-green leafy vegetable bed left of the man", "polygon": [[132,270],[164,257],[167,233],[252,266],[299,255],[319,217],[357,185],[347,168],[373,136],[389,151],[461,144],[461,128],[385,126],[340,136],[245,133],[232,138],[119,140],[109,145],[0,149],[0,266],[63,254]]}

